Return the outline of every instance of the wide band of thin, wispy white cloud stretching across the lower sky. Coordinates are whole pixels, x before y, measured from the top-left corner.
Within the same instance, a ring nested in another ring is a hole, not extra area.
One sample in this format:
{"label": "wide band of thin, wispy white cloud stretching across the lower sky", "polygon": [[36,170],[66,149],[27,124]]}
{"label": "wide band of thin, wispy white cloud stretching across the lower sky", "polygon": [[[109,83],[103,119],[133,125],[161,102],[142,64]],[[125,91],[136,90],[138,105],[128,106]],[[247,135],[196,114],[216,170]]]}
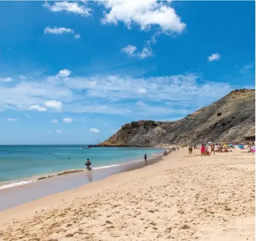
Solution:
{"label": "wide band of thin, wispy white cloud stretching across the lower sky", "polygon": [[[199,103],[205,106],[232,89],[240,88],[243,86],[206,81],[193,73],[148,78],[114,75],[84,77],[76,74],[63,79],[57,76],[25,76],[19,82],[0,86],[0,110],[26,111],[31,104],[37,103],[52,112],[84,113],[84,118],[93,113],[135,114],[138,118],[157,113],[159,118],[172,118],[161,114],[175,113],[176,106],[179,106],[177,115],[182,115],[191,108],[197,108]],[[147,103],[147,106],[138,112],[136,101]]]}

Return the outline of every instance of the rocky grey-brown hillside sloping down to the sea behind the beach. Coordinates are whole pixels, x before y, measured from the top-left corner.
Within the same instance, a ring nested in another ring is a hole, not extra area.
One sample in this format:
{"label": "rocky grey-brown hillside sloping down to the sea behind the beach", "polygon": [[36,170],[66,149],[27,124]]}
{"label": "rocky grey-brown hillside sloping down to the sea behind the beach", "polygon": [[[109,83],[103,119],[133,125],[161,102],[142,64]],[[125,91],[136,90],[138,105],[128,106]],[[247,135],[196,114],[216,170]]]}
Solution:
{"label": "rocky grey-brown hillside sloping down to the sea behind the beach", "polygon": [[140,120],[99,146],[156,146],[239,141],[255,134],[255,90],[236,90],[175,122]]}

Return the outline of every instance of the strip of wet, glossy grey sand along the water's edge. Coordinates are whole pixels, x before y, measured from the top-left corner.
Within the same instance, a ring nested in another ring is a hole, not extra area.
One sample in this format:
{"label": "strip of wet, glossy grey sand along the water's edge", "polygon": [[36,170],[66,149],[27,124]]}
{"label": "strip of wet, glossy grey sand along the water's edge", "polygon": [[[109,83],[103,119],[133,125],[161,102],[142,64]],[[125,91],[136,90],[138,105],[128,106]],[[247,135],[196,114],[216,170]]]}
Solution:
{"label": "strip of wet, glossy grey sand along the water's edge", "polygon": [[[162,159],[162,153],[156,153],[147,160],[146,165],[153,165]],[[24,180],[22,181],[25,182],[24,184],[0,189],[0,212],[26,204],[27,202],[33,202],[48,195],[77,189],[91,182],[104,180],[114,174],[137,170],[143,167],[145,167],[145,161],[138,161],[136,159],[127,163],[111,165],[108,168],[95,168],[92,171],[86,169],[75,170],[74,172],[63,171],[59,175],[52,174],[45,178],[37,178],[37,180],[31,182]]]}

